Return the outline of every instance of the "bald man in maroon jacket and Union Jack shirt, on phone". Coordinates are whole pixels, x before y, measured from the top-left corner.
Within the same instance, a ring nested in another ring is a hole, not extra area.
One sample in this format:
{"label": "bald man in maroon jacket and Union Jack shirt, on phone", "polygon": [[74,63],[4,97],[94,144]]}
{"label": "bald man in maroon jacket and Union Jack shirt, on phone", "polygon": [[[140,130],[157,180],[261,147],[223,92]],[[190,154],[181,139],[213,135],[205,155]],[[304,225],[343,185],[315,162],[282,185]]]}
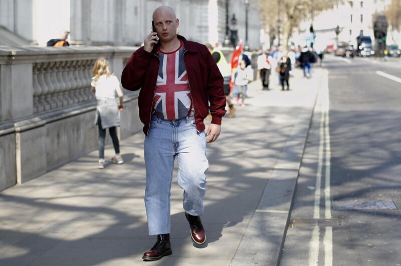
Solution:
{"label": "bald man in maroon jacket and Union Jack shirt, on phone", "polygon": [[[149,235],[157,235],[157,241],[143,254],[144,260],[171,254],[170,188],[175,157],[191,238],[199,245],[206,242],[200,220],[209,167],[206,144],[219,137],[226,113],[223,77],[208,48],[177,35],[179,20],[169,6],[157,7],[152,23],[155,31],[132,54],[121,76],[124,88],[140,89],[139,118],[146,135],[145,206]],[[212,122],[206,130],[209,110]]]}

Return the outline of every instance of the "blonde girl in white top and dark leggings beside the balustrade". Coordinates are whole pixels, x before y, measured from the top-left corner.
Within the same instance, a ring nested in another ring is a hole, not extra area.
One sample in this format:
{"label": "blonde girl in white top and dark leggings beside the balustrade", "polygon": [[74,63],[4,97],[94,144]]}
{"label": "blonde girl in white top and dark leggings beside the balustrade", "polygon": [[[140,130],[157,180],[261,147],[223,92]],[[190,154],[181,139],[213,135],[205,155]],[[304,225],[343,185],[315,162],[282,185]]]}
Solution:
{"label": "blonde girl in white top and dark leggings beside the balustrade", "polygon": [[[123,159],[120,155],[120,143],[116,127],[120,125],[119,111],[122,110],[123,93],[118,78],[110,74],[110,64],[105,58],[98,58],[93,66],[92,92],[96,95],[96,118],[95,125],[99,129],[99,168],[104,168],[104,140],[106,129],[113,141],[115,155],[111,158],[113,163],[121,164]],[[116,100],[118,97],[118,103]]]}

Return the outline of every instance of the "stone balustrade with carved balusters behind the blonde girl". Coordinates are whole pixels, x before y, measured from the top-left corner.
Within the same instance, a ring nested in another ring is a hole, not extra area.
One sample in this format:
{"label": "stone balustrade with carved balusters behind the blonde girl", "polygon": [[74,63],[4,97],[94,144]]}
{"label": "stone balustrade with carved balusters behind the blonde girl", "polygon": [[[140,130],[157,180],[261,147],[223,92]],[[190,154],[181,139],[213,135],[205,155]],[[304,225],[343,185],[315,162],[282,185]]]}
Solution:
{"label": "stone balustrade with carved balusters behind the blonde girl", "polygon": [[[0,46],[0,190],[96,148],[93,64],[108,59],[120,78],[135,49]],[[122,138],[141,129],[138,92],[123,92]]]}

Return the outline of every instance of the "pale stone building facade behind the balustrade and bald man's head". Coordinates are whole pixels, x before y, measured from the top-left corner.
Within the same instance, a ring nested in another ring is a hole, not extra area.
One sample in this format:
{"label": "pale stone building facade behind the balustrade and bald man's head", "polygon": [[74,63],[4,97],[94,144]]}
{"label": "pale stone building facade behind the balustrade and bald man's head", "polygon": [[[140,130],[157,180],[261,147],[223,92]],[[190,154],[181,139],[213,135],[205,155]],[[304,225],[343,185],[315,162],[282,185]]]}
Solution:
{"label": "pale stone building facade behind the balustrade and bald man's head", "polygon": [[[235,14],[238,37],[245,39],[245,0],[2,0],[0,25],[39,45],[63,29],[71,30],[72,43],[139,45],[151,30],[153,10],[166,4],[176,10],[179,33],[187,39],[223,43],[227,1],[229,23]],[[248,42],[256,48],[261,28],[258,1],[249,2]]]}

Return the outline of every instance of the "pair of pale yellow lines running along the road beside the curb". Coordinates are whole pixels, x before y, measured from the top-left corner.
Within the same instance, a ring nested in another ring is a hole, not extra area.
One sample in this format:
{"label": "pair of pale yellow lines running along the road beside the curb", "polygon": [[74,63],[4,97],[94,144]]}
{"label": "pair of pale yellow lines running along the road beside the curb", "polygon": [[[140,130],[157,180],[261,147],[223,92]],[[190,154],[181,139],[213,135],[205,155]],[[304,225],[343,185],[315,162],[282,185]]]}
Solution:
{"label": "pair of pale yellow lines running along the road beside the curb", "polygon": [[[321,117],[320,117],[320,129],[319,129],[319,151],[318,151],[318,163],[316,171],[316,191],[313,209],[313,218],[320,218],[320,201],[322,195],[321,184],[322,184],[322,170],[323,165],[325,166],[325,179],[324,179],[324,205],[325,211],[324,216],[326,219],[331,219],[331,201],[330,201],[330,130],[329,130],[329,90],[328,90],[328,74],[327,70],[323,77],[321,87]],[[309,243],[309,265],[317,266],[319,259],[319,246],[320,246],[320,228],[318,226],[313,228],[312,238]],[[333,265],[333,229],[332,227],[326,227],[323,236],[324,246],[324,265]]]}

